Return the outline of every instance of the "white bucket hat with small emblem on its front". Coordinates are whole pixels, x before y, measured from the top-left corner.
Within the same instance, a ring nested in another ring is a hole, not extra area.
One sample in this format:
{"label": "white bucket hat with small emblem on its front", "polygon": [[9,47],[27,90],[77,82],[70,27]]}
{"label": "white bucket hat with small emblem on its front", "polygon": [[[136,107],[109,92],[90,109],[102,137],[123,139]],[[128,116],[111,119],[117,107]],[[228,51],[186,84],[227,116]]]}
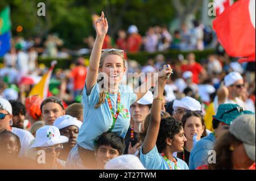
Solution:
{"label": "white bucket hat with small emblem on its front", "polygon": [[47,147],[68,142],[68,137],[60,136],[60,131],[52,125],[45,125],[36,131],[34,144],[30,148]]}

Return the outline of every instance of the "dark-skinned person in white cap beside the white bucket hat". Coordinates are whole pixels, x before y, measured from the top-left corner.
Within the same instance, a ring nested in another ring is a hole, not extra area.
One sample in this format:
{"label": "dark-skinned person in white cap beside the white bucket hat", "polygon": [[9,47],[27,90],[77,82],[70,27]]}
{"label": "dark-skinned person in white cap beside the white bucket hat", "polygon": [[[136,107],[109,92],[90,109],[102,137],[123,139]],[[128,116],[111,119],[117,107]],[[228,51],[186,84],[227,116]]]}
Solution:
{"label": "dark-skinned person in white cap beside the white bucket hat", "polygon": [[63,144],[63,150],[59,155],[60,159],[66,161],[69,151],[77,144],[76,140],[81,125],[81,121],[70,115],[60,116],[53,123],[53,126],[59,128],[60,135],[68,137],[68,142]]}

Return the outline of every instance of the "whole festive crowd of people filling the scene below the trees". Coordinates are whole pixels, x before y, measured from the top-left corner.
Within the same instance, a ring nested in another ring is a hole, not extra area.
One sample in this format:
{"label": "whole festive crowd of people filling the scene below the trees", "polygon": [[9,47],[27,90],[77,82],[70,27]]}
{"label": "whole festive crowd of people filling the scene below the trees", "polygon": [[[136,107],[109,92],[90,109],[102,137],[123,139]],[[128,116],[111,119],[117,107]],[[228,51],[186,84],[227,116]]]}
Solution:
{"label": "whole festive crowd of people filling the scene below the trees", "polygon": [[[79,57],[71,69],[55,70],[44,99],[28,96],[47,71],[35,63],[42,50],[27,55],[18,44],[18,54],[13,48],[5,55],[1,169],[255,170],[255,62],[239,64],[221,54],[196,61],[193,53],[174,61],[158,54],[141,66],[126,60],[129,46],[121,40],[120,49],[104,48],[104,12],[95,28],[89,65]],[[154,28],[140,41],[148,52],[202,48],[202,39],[189,45],[177,40],[185,37],[183,28],[175,38],[159,30],[162,45]],[[128,32],[138,35],[135,26]],[[49,47],[56,46],[53,40],[61,44],[51,37]]]}

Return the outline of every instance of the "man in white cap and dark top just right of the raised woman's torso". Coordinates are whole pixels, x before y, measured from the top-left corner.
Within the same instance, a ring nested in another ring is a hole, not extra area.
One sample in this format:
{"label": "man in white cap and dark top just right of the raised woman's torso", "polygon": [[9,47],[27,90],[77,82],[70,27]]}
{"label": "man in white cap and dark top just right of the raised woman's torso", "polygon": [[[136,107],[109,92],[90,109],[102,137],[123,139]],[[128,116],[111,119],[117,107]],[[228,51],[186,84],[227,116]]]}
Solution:
{"label": "man in white cap and dark top just right of the raised woman's torso", "polygon": [[153,94],[151,91],[139,99],[137,102],[131,104],[130,112],[131,119],[134,121],[134,124],[128,129],[125,136],[125,153],[124,154],[135,154],[141,144],[137,140],[137,135],[142,131],[143,123],[146,116],[150,113],[151,104],[153,102]]}

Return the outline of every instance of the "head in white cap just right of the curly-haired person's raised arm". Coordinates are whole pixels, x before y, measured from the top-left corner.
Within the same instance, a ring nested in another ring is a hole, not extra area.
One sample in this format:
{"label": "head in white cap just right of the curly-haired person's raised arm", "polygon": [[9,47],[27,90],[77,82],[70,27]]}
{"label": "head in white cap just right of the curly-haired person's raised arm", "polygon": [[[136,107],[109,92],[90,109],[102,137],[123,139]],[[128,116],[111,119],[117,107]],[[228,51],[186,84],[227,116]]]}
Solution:
{"label": "head in white cap just right of the curly-haired person's raised arm", "polygon": [[185,112],[188,111],[197,111],[202,114],[200,102],[189,96],[185,96],[181,100],[174,100],[172,107],[174,108],[172,116],[178,121],[181,121]]}

